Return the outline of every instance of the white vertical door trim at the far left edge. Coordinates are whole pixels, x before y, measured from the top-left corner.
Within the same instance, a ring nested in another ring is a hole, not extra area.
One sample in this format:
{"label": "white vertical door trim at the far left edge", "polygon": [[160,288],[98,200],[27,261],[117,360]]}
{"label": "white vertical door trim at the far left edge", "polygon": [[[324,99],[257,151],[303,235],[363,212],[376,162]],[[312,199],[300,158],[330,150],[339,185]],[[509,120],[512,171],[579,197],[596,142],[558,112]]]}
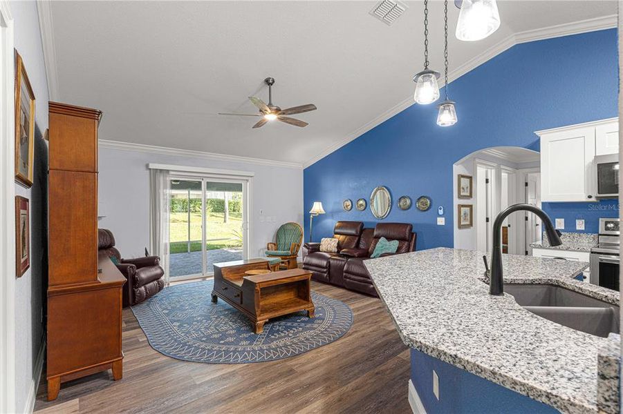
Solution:
{"label": "white vertical door trim at the far left edge", "polygon": [[13,19],[0,0],[0,412],[15,412],[15,63]]}

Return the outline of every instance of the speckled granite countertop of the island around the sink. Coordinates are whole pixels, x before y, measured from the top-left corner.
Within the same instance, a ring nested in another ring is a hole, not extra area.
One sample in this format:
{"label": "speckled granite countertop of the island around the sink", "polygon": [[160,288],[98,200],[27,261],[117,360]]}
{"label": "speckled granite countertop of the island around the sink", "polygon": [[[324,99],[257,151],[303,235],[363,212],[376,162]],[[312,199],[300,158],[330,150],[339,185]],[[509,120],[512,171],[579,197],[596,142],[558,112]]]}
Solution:
{"label": "speckled granite countertop of the island around the sink", "polygon": [[[567,413],[597,412],[597,353],[608,344],[489,295],[483,253],[434,248],[364,261],[407,346]],[[619,304],[573,279],[588,263],[502,255],[505,282],[557,284]]]}

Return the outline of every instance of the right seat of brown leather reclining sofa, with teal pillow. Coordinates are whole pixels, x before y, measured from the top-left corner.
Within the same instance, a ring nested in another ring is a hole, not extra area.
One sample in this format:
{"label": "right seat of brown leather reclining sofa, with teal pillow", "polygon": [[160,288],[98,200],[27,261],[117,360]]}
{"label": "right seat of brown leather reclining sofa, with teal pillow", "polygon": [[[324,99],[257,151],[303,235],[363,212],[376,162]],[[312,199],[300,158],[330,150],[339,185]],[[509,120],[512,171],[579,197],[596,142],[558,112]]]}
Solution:
{"label": "right seat of brown leather reclining sofa, with teal pillow", "polygon": [[[353,252],[354,255],[348,259],[344,266],[344,287],[350,290],[356,290],[357,292],[366,293],[367,295],[378,296],[372,279],[366,266],[364,266],[364,260],[369,259],[378,241],[381,237],[385,239],[398,240],[398,249],[396,253],[384,253],[381,257],[390,255],[399,255],[400,253],[409,253],[416,250],[417,234],[413,233],[413,226],[405,223],[379,223],[374,228],[374,235],[372,242],[368,248],[367,253],[363,253],[362,250]],[[342,252],[343,255],[348,255],[350,252]],[[365,255],[364,255],[365,254]]]}

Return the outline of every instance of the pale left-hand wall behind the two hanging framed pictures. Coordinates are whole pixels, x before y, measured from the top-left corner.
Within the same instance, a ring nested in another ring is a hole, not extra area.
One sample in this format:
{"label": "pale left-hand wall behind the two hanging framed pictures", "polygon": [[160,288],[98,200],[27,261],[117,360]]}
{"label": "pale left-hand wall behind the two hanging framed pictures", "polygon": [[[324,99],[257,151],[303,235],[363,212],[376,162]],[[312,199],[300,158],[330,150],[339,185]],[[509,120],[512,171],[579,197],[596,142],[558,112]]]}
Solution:
{"label": "pale left-hand wall behind the two hanging framed pictures", "polygon": [[36,391],[35,362],[41,349],[44,326],[41,310],[47,279],[47,143],[48,84],[35,1],[11,1],[15,48],[35,92],[35,177],[32,188],[15,184],[16,195],[30,199],[30,268],[15,286],[15,399],[19,412],[29,409]]}

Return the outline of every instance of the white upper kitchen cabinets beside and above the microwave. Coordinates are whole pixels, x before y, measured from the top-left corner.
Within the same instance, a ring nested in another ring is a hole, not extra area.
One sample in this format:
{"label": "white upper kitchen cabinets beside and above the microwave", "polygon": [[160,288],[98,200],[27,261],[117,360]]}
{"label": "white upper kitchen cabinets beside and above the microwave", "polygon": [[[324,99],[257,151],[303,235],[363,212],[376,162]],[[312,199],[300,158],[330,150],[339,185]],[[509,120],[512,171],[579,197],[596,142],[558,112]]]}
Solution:
{"label": "white upper kitchen cabinets beside and above the microwave", "polygon": [[541,201],[595,201],[595,155],[617,154],[618,120],[537,131],[541,137]]}

